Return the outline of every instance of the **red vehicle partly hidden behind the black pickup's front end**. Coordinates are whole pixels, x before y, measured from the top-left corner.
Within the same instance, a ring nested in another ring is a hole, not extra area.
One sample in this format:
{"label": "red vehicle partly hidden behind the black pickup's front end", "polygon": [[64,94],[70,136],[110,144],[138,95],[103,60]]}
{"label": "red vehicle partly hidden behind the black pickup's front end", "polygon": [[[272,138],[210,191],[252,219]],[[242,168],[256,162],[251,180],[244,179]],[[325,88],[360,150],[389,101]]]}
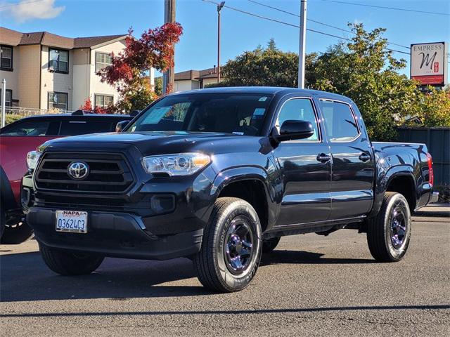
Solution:
{"label": "red vehicle partly hidden behind the black pickup's front end", "polygon": [[27,172],[27,153],[47,140],[86,133],[115,131],[123,114],[51,114],[19,119],[0,129],[0,237],[2,244],[20,244],[32,235],[20,203],[20,183]]}

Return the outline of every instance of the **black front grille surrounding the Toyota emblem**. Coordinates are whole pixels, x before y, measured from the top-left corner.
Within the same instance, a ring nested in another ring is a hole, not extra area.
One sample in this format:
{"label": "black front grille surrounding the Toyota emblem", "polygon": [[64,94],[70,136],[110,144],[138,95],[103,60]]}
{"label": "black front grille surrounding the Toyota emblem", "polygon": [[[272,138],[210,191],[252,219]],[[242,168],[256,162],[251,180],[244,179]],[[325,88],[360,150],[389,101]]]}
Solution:
{"label": "black front grille surrounding the Toyota emblem", "polygon": [[[68,175],[68,166],[74,161],[89,166],[89,174],[83,180]],[[133,182],[127,160],[117,153],[47,152],[34,175],[34,183],[41,192],[122,194]]]}

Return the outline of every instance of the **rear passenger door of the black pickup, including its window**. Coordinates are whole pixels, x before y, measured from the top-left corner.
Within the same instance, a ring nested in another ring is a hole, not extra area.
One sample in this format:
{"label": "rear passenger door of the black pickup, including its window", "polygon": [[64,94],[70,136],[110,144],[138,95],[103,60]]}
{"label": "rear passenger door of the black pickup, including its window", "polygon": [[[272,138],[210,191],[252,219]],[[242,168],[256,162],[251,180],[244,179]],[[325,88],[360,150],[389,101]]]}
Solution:
{"label": "rear passenger door of the black pickup, including its window", "polygon": [[362,216],[373,202],[371,143],[351,104],[328,99],[319,104],[333,156],[330,219]]}

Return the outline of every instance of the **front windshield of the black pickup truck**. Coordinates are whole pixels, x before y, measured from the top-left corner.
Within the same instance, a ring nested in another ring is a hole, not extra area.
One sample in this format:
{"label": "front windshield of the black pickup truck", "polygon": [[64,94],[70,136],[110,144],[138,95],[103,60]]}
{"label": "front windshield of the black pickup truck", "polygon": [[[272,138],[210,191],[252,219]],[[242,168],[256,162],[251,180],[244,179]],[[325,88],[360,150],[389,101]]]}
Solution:
{"label": "front windshield of the black pickup truck", "polygon": [[198,131],[255,136],[271,95],[191,93],[169,95],[152,105],[124,132]]}

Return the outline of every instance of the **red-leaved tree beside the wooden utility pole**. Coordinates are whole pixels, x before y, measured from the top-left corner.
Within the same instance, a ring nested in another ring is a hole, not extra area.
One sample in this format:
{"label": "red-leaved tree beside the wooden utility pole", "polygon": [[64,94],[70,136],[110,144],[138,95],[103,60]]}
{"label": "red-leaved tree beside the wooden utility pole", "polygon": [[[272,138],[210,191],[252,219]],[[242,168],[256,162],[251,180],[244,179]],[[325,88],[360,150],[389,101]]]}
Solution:
{"label": "red-leaved tree beside the wooden utility pole", "polygon": [[174,46],[182,32],[178,22],[148,29],[140,39],[134,38],[129,29],[124,50],[113,55],[110,66],[97,72],[101,81],[120,92],[118,110],[141,110],[156,98],[146,75],[152,67],[164,72],[174,66]]}

